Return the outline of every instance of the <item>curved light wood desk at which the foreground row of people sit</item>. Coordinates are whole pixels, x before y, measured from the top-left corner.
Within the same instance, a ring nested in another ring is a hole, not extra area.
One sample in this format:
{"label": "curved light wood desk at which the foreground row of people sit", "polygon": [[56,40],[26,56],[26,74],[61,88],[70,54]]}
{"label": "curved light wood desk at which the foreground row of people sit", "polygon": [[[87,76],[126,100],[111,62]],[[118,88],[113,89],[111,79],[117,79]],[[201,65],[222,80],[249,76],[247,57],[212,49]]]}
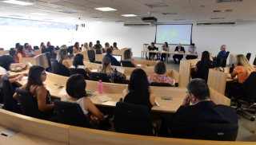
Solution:
{"label": "curved light wood desk at which the foreground row of people sit", "polygon": [[[18,64],[16,64],[18,65]],[[28,72],[28,69],[25,71]],[[22,72],[18,72],[22,73]],[[11,72],[11,74],[17,74]],[[65,94],[65,88],[58,89],[59,86],[66,86],[66,80],[68,77],[59,76],[53,73],[47,72],[47,79],[44,82],[46,88],[50,91],[52,97],[60,99]],[[19,84],[26,84],[27,80],[18,81]],[[98,99],[98,81],[86,80],[86,90],[94,92],[96,96],[92,97],[91,100],[96,105],[106,106],[113,108],[115,104],[122,97],[122,91],[128,88],[127,84],[113,84],[113,83],[103,83],[103,93],[107,96],[110,96],[112,100],[107,102],[102,102]],[[160,106],[154,106],[152,108],[153,112],[176,112],[177,109],[182,104],[184,97],[186,96],[186,88],[175,88],[175,87],[153,87],[150,89],[154,92],[156,100]],[[64,94],[62,93],[64,91]],[[170,100],[166,100],[162,97],[169,97]],[[230,99],[226,98],[222,94],[216,92],[214,89],[210,88],[210,99],[215,102],[215,104],[225,104],[230,105]]]}

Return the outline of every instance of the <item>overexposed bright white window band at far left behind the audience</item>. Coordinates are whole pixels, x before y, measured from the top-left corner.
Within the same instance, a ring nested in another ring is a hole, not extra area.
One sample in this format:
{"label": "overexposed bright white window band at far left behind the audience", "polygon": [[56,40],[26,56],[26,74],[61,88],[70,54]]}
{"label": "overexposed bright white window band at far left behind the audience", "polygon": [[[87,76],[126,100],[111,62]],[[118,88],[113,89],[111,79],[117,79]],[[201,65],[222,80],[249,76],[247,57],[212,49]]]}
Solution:
{"label": "overexposed bright white window band at far left behind the audience", "polygon": [[0,26],[0,47],[4,49],[14,48],[19,42],[21,45],[28,42],[30,45],[45,45],[47,41],[51,45],[73,45],[73,33],[75,30],[68,29],[39,29],[18,26]]}

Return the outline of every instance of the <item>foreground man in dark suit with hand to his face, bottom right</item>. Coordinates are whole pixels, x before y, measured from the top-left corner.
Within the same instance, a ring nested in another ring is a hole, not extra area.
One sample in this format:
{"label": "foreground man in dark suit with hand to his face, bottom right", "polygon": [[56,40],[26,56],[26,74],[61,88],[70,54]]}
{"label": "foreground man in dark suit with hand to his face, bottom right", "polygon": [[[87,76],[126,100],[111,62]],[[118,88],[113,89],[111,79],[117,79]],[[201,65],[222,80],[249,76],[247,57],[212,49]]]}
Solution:
{"label": "foreground man in dark suit with hand to his face, bottom right", "polygon": [[171,119],[162,119],[161,136],[165,136],[167,128],[171,137],[190,139],[200,123],[238,123],[234,108],[216,105],[210,100],[210,90],[205,80],[190,80],[186,88],[187,95],[181,107]]}

